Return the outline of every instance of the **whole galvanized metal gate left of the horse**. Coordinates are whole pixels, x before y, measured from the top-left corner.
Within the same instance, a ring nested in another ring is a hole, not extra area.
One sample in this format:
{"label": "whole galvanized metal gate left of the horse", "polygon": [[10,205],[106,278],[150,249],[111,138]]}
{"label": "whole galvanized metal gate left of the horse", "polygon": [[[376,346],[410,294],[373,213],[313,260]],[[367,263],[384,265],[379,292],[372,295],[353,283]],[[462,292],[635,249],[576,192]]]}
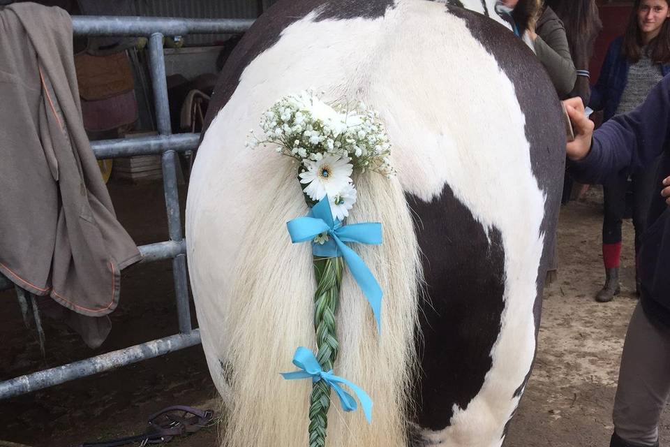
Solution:
{"label": "whole galvanized metal gate left of the horse", "polygon": [[[144,138],[100,140],[91,142],[91,147],[97,159],[161,154],[165,208],[168,212],[170,240],[142,245],[137,248],[140,249],[143,256],[141,262],[172,259],[179,333],[0,382],[0,399],[31,393],[35,390],[129,365],[140,360],[154,358],[200,343],[200,331],[191,327],[188,279],[186,278],[186,240],[184,240],[184,232],[181,228],[181,210],[179,209],[179,198],[177,196],[177,170],[175,165],[177,152],[193,150],[198,147],[200,134],[180,133],[172,135],[170,108],[168,107],[168,85],[165,80],[163,36],[241,34],[251,26],[253,20],[73,16],[72,22],[75,36],[149,37],[149,71],[154,90],[158,135]],[[0,274],[0,291],[13,286],[11,281]],[[34,296],[18,287],[16,287],[16,291],[22,307],[27,308],[28,302],[31,301],[30,304],[34,309],[36,322],[39,324],[39,314]]]}

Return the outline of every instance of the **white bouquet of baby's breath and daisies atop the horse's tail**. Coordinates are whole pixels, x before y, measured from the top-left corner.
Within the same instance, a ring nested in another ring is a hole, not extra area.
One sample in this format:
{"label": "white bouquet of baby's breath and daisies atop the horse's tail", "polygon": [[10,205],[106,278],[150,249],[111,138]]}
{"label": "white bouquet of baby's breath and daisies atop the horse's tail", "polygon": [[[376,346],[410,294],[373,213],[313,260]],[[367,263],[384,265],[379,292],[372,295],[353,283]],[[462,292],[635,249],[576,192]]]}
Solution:
{"label": "white bouquet of baby's breath and daisies atop the horse's tail", "polygon": [[265,134],[248,135],[247,145],[275,144],[276,152],[301,163],[300,183],[313,202],[328,196],[335,219],[343,221],[356,202],[354,170],[392,177],[391,143],[378,112],[358,103],[329,105],[311,90],[286,96],[272,105],[260,120]]}

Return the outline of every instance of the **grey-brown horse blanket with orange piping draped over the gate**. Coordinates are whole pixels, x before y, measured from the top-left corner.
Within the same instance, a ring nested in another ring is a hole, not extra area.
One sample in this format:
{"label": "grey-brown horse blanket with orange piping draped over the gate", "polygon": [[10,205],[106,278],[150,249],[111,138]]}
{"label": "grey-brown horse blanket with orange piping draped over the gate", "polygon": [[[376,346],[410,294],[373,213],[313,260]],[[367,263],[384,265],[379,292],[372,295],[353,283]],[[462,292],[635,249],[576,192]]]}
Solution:
{"label": "grey-brown horse blanket with orange piping draped over the gate", "polygon": [[70,16],[16,3],[0,10],[0,36],[0,272],[104,316],[117,307],[121,269],[141,255],[84,131]]}

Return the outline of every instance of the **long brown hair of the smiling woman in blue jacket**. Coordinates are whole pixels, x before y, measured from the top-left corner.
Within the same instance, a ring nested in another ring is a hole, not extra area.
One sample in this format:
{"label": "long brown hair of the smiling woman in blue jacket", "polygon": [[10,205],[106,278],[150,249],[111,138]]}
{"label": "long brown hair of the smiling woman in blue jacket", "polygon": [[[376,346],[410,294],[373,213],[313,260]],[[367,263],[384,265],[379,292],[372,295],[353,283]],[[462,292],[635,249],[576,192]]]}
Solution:
{"label": "long brown hair of the smiling woman in blue jacket", "polygon": [[[623,44],[621,45],[621,54],[628,59],[632,64],[640,60],[642,56],[642,47],[644,41],[642,40],[642,32],[637,23],[637,12],[640,8],[641,0],[635,0],[630,19],[628,20],[628,27],[626,33],[623,35]],[[670,6],[670,0],[665,0]],[[653,38],[648,43],[648,52],[651,61],[654,64],[669,64],[670,63],[670,20],[666,19],[658,36]]]}

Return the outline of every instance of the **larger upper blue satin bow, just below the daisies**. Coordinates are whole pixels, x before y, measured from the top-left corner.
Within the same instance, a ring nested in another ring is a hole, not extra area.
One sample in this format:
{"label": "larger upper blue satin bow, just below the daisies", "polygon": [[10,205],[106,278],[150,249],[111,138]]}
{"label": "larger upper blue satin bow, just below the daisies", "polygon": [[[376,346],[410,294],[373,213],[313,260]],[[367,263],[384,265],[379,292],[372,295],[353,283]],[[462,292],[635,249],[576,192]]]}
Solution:
{"label": "larger upper blue satin bow, just below the daisies", "polygon": [[344,242],[359,242],[361,244],[381,244],[381,223],[352,223],[342,225],[333,220],[330,212],[328,196],[322,198],[312,207],[311,216],[298,217],[286,223],[288,233],[294,244],[297,242],[313,241],[322,233],[327,233],[329,240],[324,244],[313,242],[312,253],[315,256],[336,258],[342,256],[347,263],[351,274],[368,299],[372,312],[377,321],[377,330],[381,331],[380,313],[382,309],[382,288],[374,275],[355,251],[347,247]]}

